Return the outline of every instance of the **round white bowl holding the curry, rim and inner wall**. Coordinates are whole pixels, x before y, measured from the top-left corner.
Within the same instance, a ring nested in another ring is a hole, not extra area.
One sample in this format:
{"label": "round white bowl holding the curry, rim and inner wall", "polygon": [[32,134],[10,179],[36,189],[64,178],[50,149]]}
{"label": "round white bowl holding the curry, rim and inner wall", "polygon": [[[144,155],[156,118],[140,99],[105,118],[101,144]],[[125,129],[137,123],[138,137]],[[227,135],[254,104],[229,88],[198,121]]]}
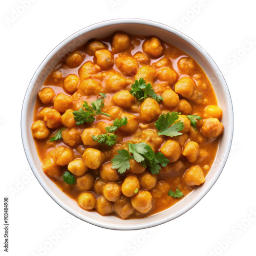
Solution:
{"label": "round white bowl holding the curry, rim and inner wall", "polygon": [[[214,87],[219,105],[223,109],[222,122],[224,124],[225,131],[219,143],[216,159],[214,164],[212,164],[205,183],[174,206],[159,212],[156,215],[143,219],[121,220],[113,216],[101,216],[97,214],[97,212],[82,210],[73,199],[63,193],[42,172],[35,143],[31,135],[31,125],[37,92],[55,65],[63,56],[65,56],[65,54],[82,46],[89,39],[102,38],[115,31],[124,31],[135,35],[155,35],[189,54],[199,63],[208,76],[212,86]],[[195,41],[174,28],[170,28],[166,25],[152,22],[150,20],[134,18],[113,19],[91,25],[76,32],[66,40],[62,41],[50,52],[44,61],[42,61],[41,65],[36,70],[25,95],[21,128],[24,150],[31,169],[41,186],[57,204],[77,218],[96,226],[117,230],[134,230],[153,227],[173,220],[195,206],[206,195],[220,176],[229,154],[233,135],[233,109],[227,84],[221,74],[221,71],[214,60],[212,60],[205,50]]]}

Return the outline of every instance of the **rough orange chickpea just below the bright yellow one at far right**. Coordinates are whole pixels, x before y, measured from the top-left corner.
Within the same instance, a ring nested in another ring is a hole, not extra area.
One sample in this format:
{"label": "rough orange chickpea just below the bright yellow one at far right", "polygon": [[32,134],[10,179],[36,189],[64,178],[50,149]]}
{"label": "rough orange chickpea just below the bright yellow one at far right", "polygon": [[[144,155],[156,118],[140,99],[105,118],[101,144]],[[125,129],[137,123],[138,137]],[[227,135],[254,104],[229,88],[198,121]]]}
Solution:
{"label": "rough orange chickpea just below the bright yellow one at far right", "polygon": [[201,127],[201,133],[208,138],[220,136],[224,131],[223,124],[217,118],[207,118]]}

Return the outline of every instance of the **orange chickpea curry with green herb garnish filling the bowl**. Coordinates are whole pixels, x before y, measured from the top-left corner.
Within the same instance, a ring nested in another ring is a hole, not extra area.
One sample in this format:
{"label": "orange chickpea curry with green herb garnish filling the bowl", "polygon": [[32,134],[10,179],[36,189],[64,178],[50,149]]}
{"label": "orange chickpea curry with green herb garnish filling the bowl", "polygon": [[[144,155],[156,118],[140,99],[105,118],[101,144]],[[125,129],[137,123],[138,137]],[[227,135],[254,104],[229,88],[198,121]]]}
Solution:
{"label": "orange chickpea curry with green herb garnish filling the bowl", "polygon": [[155,36],[116,32],[67,54],[38,92],[42,171],[84,210],[144,218],[205,181],[224,127],[198,63]]}

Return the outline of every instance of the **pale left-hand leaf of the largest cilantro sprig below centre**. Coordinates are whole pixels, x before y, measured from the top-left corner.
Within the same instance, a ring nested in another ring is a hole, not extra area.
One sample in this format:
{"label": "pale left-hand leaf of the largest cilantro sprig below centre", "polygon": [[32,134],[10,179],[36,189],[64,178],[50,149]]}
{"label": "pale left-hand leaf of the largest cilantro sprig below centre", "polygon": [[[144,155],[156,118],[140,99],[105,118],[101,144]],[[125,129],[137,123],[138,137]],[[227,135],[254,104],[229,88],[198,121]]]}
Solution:
{"label": "pale left-hand leaf of the largest cilantro sprig below centre", "polygon": [[127,169],[130,168],[129,159],[132,159],[130,153],[127,150],[118,150],[117,155],[111,160],[112,168],[118,169],[119,174],[125,173]]}

